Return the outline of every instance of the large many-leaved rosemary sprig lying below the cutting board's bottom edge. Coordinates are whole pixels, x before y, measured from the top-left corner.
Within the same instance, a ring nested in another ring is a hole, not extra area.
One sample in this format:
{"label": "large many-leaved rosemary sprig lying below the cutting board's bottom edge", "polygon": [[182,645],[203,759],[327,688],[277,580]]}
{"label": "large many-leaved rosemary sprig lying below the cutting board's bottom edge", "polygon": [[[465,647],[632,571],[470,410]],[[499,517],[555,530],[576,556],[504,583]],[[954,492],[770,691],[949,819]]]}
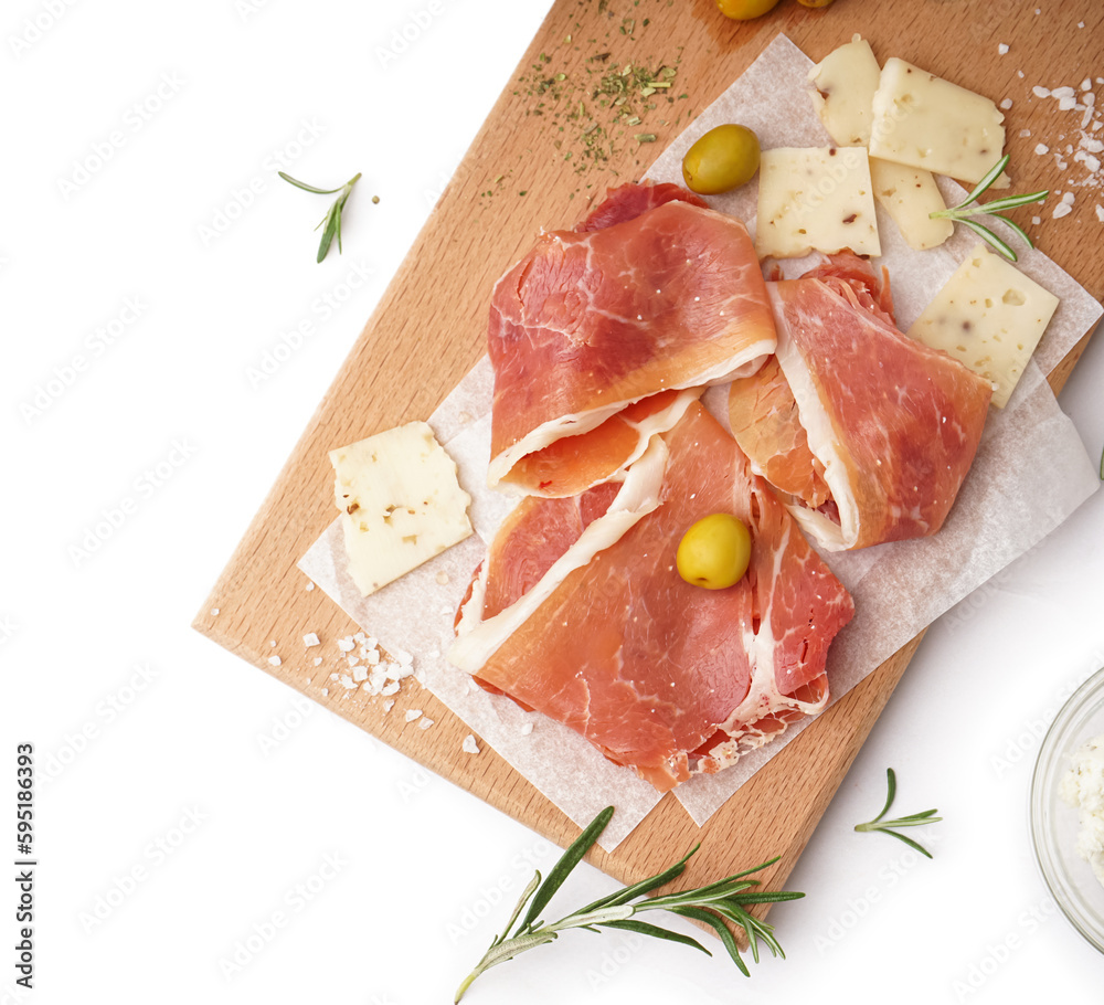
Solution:
{"label": "large many-leaved rosemary sprig lying below the cutting board's bottom edge", "polygon": [[[464,993],[471,985],[471,982],[484,973],[484,971],[490,970],[490,967],[499,963],[505,963],[507,960],[512,960],[526,950],[554,942],[560,932],[573,928],[586,929],[590,932],[597,932],[599,927],[622,929],[636,932],[640,935],[664,939],[668,942],[678,942],[682,945],[689,945],[692,949],[699,949],[707,955],[712,955],[697,939],[691,939],[689,935],[673,932],[658,924],[637,920],[634,917],[644,911],[668,911],[669,913],[679,914],[682,918],[690,918],[710,925],[720,935],[721,942],[732,958],[732,961],[745,976],[750,976],[751,973],[747,970],[747,964],[740,955],[740,948],[726,922],[732,922],[744,930],[747,935],[747,944],[751,949],[752,959],[756,963],[758,962],[760,942],[771,950],[772,955],[785,959],[786,954],[782,951],[778,940],[774,937],[773,928],[746,910],[749,906],[756,903],[797,900],[799,897],[805,896],[804,893],[796,893],[789,890],[760,892],[752,889],[758,886],[758,880],[747,879],[746,877],[773,865],[778,860],[777,858],[772,858],[769,861],[765,861],[754,869],[736,872],[718,882],[712,882],[694,890],[665,893],[646,900],[638,899],[646,897],[654,890],[658,890],[680,876],[682,870],[686,869],[690,856],[698,850],[699,845],[694,845],[679,861],[662,872],[657,872],[655,876],[641,879],[630,887],[623,887],[620,890],[615,890],[606,897],[599,897],[597,900],[586,905],[586,907],[572,911],[559,921],[553,921],[550,924],[541,921],[540,916],[544,908],[548,907],[552,896],[563,885],[571,870],[582,861],[583,856],[586,855],[591,846],[597,840],[598,835],[605,829],[613,814],[613,806],[607,806],[603,810],[583,833],[578,835],[571,847],[563,853],[563,856],[552,867],[552,870],[543,882],[541,882],[540,872],[533,877],[532,881],[522,892],[521,899],[513,909],[513,913],[510,914],[510,920],[502,930],[502,934],[496,935],[491,940],[490,948],[484,953],[484,958],[457,988],[455,1002],[459,1002],[464,997]],[[518,921],[522,911],[526,911],[524,917],[518,923],[517,928],[513,928],[514,922]],[[513,934],[510,934],[511,928],[513,928]]]}

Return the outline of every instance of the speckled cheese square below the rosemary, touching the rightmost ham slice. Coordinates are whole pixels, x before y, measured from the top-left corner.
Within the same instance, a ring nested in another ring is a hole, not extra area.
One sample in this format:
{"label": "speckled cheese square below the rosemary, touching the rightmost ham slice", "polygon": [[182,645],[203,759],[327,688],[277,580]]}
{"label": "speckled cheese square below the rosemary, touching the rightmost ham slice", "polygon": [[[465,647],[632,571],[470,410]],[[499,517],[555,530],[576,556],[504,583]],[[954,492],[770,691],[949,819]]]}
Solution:
{"label": "speckled cheese square below the rosemary, touching the rightmost ham slice", "polygon": [[977,244],[909,335],[992,381],[1002,409],[1057,307],[1052,293]]}

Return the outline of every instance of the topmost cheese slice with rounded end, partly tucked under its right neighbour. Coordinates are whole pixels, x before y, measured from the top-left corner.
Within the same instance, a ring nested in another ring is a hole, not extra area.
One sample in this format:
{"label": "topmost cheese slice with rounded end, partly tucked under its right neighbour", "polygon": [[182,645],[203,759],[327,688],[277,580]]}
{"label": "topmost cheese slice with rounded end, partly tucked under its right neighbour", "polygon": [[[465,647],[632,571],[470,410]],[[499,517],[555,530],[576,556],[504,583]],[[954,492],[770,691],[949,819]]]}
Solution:
{"label": "topmost cheese slice with rounded end, partly tucked under its right neighbour", "polygon": [[870,142],[881,72],[870,43],[860,35],[834,49],[809,71],[816,87],[813,107],[828,135],[841,147],[864,147]]}

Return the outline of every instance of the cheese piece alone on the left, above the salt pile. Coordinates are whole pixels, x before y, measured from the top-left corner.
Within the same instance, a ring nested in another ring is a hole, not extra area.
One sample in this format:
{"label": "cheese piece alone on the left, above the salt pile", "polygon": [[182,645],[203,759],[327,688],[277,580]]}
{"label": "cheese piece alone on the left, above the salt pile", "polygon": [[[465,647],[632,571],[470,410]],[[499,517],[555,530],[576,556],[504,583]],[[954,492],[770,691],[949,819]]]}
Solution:
{"label": "cheese piece alone on the left, above the salt pile", "polygon": [[471,533],[471,497],[424,422],[330,451],[349,573],[368,596]]}

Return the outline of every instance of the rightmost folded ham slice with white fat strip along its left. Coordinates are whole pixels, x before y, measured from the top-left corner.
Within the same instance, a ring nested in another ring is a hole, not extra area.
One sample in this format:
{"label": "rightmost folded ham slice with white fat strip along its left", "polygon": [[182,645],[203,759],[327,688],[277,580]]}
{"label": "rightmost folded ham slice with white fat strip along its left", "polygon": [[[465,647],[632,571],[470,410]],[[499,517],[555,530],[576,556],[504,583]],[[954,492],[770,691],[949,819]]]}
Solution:
{"label": "rightmost folded ham slice with white fat strip along its left", "polygon": [[837,264],[767,284],[777,362],[729,394],[730,426],[753,469],[829,551],[935,533],[992,394],[894,327],[869,265],[853,255]]}

